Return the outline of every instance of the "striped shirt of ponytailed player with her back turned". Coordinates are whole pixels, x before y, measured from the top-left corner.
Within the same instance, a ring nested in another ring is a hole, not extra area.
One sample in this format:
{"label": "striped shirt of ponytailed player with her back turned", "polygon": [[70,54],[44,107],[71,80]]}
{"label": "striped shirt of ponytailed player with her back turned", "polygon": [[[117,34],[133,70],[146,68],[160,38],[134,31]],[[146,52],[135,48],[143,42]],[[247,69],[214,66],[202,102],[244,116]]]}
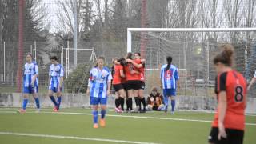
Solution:
{"label": "striped shirt of ponytailed player with her back turned", "polygon": [[170,65],[169,70],[165,70],[167,64],[161,68],[160,78],[163,89],[176,89],[176,81],[178,81],[178,68],[174,65]]}

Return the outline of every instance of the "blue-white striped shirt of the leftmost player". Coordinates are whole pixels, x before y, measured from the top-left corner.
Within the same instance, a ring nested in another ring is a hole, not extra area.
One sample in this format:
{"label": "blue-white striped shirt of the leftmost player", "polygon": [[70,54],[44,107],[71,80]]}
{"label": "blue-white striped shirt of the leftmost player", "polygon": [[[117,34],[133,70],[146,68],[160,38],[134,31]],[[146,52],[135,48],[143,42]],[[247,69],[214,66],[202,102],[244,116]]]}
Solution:
{"label": "blue-white striped shirt of the leftmost player", "polygon": [[[38,74],[37,63],[36,62],[26,63],[24,65],[23,86],[24,87],[31,86],[32,78],[36,74]],[[35,79],[34,86],[38,86],[38,78]]]}

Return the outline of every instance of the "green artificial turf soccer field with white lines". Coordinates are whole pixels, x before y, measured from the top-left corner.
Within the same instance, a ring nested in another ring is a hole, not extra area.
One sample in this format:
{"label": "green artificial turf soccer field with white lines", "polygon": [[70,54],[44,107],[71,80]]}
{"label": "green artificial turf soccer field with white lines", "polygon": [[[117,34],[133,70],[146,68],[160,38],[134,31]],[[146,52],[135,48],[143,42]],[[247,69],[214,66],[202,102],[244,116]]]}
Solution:
{"label": "green artificial turf soccer field with white lines", "polygon": [[[207,143],[214,114],[162,112],[116,114],[109,110],[106,127],[94,129],[91,110],[63,109],[58,113],[43,109],[16,113],[0,108],[0,143]],[[256,142],[256,115],[246,116],[244,143]]]}

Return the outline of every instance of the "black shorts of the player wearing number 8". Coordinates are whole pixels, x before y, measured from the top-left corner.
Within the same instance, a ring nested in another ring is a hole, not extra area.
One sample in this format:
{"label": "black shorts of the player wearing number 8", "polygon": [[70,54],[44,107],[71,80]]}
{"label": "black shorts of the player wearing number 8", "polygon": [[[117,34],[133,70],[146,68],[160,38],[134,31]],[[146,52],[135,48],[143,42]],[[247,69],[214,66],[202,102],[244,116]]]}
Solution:
{"label": "black shorts of the player wearing number 8", "polygon": [[226,129],[226,135],[227,138],[222,138],[221,140],[218,140],[218,128],[212,127],[210,130],[208,142],[215,144],[242,144],[244,131]]}

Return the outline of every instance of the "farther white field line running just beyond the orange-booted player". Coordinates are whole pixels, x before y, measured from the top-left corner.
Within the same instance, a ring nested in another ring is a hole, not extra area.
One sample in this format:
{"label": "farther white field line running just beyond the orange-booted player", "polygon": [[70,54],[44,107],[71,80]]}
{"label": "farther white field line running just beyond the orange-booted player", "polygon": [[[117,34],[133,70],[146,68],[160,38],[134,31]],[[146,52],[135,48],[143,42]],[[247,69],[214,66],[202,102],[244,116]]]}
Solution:
{"label": "farther white field line running just beyond the orange-booted player", "polygon": [[[3,113],[14,113],[13,111],[3,111]],[[2,111],[0,111],[2,113]],[[33,114],[35,112],[26,112]],[[42,114],[75,114],[75,115],[91,115],[90,113],[68,113],[68,112],[40,112]],[[199,119],[188,119],[188,118],[161,118],[161,117],[146,117],[146,116],[133,116],[133,115],[116,115],[116,114],[106,114],[108,117],[118,117],[118,118],[144,118],[144,119],[160,119],[160,120],[172,120],[172,121],[185,121],[185,122],[212,122],[209,120],[199,120]],[[256,126],[256,123],[246,123],[247,126]]]}

